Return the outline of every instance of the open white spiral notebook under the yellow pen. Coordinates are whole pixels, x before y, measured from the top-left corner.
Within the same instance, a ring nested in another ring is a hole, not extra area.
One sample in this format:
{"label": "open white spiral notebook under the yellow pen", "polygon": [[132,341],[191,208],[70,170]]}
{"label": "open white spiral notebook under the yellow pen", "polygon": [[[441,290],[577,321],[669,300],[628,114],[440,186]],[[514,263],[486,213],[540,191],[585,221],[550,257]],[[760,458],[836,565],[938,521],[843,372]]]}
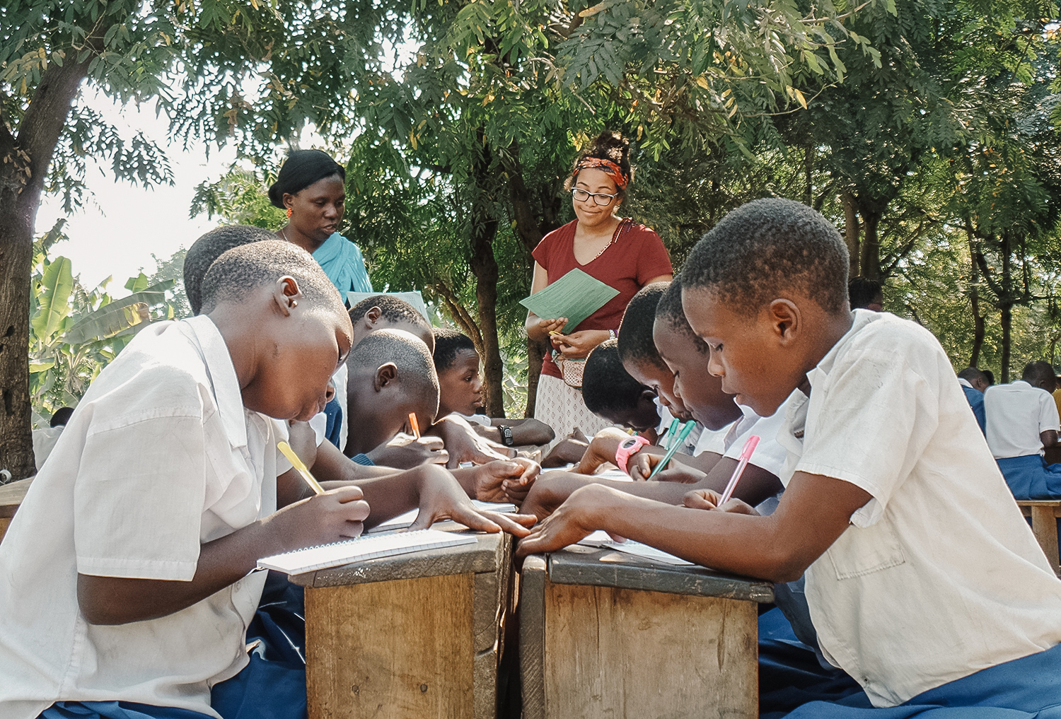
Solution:
{"label": "open white spiral notebook under the yellow pen", "polygon": [[458,544],[474,544],[474,534],[455,534],[437,529],[417,529],[393,534],[370,534],[333,544],[295,549],[282,555],[258,560],[259,569],[276,569],[294,575],[316,572],[367,559],[394,557],[423,549],[452,547]]}

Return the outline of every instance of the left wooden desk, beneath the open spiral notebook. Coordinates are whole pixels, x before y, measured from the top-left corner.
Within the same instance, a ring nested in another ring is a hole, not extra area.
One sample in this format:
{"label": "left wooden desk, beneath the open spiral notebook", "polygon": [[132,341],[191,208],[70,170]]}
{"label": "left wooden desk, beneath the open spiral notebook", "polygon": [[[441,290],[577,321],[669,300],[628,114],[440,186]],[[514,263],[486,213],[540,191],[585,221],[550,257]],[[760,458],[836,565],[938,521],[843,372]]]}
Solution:
{"label": "left wooden desk, beneath the open spiral notebook", "polygon": [[292,577],[310,719],[495,716],[512,540],[477,538]]}

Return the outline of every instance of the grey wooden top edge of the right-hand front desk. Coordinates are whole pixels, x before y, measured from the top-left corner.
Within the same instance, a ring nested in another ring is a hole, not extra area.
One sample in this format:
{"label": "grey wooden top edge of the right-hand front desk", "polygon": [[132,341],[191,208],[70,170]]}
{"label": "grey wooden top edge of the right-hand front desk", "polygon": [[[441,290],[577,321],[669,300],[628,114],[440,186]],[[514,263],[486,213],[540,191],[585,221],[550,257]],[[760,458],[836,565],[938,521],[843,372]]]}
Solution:
{"label": "grey wooden top edge of the right-hand front desk", "polygon": [[767,581],[720,574],[702,566],[654,562],[611,549],[574,545],[550,554],[547,566],[549,579],[554,584],[614,586],[762,603],[773,601],[773,584]]}

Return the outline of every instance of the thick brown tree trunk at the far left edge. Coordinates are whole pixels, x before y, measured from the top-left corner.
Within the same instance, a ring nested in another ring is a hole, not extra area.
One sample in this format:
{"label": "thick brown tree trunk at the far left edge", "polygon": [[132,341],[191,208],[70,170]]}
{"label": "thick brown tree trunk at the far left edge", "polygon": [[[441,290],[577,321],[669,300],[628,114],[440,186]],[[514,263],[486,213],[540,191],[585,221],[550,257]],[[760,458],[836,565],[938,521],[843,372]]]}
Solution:
{"label": "thick brown tree trunk at the far left edge", "polygon": [[[90,40],[93,38],[89,38]],[[50,65],[18,126],[0,118],[0,469],[31,476],[30,274],[33,234],[48,166],[70,104],[85,77],[84,63]]]}

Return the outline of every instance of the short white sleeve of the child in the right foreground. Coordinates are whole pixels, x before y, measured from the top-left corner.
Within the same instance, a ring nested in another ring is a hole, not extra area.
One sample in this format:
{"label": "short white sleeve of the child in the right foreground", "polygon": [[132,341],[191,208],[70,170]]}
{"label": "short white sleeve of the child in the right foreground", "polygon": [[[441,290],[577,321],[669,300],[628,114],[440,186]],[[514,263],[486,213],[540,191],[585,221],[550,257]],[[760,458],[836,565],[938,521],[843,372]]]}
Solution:
{"label": "short white sleeve of the child in the right foreground", "polygon": [[851,523],[875,524],[939,425],[937,388],[902,353],[873,348],[845,352],[827,386],[811,391],[829,392],[829,411],[807,416],[795,471],[864,489],[873,498]]}

